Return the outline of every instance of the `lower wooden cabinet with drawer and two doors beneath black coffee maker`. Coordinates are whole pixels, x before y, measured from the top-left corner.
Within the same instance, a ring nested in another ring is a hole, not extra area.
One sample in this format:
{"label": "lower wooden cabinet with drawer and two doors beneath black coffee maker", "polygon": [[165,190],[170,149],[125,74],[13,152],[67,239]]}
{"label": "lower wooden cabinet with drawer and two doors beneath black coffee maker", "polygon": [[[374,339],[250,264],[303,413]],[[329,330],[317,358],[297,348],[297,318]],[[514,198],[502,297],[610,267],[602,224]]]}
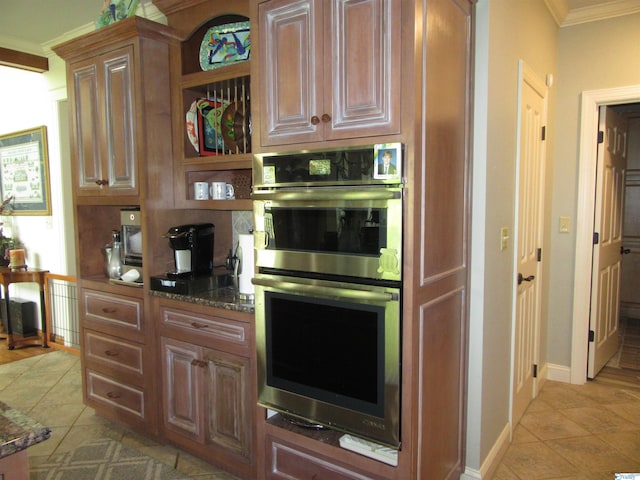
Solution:
{"label": "lower wooden cabinet with drawer and two doors beneath black coffee maker", "polygon": [[252,315],[161,305],[165,436],[241,478],[255,478]]}

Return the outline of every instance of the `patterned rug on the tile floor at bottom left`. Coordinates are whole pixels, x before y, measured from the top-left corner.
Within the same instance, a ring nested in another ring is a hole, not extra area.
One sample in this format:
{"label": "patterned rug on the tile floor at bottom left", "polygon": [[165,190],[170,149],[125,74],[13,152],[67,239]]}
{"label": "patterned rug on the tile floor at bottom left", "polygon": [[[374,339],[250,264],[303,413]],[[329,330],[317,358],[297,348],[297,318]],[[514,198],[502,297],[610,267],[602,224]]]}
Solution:
{"label": "patterned rug on the tile floor at bottom left", "polygon": [[30,480],[188,480],[169,465],[110,439],[54,455],[30,469]]}

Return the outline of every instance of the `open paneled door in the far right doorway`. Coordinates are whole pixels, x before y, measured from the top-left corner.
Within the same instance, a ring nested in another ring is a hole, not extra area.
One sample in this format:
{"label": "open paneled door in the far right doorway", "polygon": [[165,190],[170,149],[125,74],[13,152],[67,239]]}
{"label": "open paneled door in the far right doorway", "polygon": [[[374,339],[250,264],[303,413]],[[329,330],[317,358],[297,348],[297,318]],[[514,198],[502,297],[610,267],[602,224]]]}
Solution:
{"label": "open paneled door in the far right doorway", "polygon": [[618,350],[622,220],[626,171],[626,119],[610,107],[600,107],[600,138],[596,173],[589,361],[594,378]]}

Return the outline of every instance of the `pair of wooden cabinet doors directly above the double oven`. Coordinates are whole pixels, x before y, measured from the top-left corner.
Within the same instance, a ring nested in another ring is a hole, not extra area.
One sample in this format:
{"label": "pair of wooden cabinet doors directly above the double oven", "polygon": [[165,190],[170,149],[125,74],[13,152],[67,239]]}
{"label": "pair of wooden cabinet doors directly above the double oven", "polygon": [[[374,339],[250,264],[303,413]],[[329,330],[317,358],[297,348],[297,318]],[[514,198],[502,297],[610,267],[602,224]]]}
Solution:
{"label": "pair of wooden cabinet doors directly above the double oven", "polygon": [[398,0],[258,6],[262,146],[400,132]]}

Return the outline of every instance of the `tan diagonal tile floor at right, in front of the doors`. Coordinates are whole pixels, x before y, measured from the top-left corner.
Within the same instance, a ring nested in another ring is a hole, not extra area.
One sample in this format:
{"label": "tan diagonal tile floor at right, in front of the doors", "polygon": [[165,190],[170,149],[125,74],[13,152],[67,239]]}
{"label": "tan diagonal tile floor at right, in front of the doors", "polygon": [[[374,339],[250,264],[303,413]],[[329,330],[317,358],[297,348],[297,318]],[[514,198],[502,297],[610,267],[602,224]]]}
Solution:
{"label": "tan diagonal tile floor at right, in front of the doors", "polygon": [[640,473],[640,388],[548,381],[492,480],[612,480]]}

